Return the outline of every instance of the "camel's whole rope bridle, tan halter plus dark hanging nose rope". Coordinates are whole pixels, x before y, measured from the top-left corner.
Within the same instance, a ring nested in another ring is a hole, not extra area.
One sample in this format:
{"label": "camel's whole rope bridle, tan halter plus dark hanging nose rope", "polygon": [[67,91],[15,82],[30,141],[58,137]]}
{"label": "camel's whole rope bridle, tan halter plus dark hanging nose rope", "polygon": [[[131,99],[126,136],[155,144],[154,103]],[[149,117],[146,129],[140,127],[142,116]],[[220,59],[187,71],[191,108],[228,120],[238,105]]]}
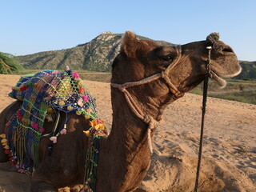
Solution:
{"label": "camel's whole rope bridle, tan halter plus dark hanging nose rope", "polygon": [[[169,86],[170,92],[175,95],[175,97],[178,97],[181,92],[177,89],[176,86],[172,82],[170,82],[170,78],[168,77],[168,74],[170,73],[170,70],[174,68],[174,66],[177,65],[178,61],[180,60],[182,56],[182,49],[181,46],[175,47],[176,52],[178,54],[177,58],[174,59],[174,62],[170,63],[170,65],[166,68],[166,70],[162,70],[161,73],[151,75],[148,78],[143,78],[142,80],[138,82],[126,82],[122,85],[111,83],[110,86],[113,86],[114,88],[118,88],[122,91],[122,93],[125,94],[126,102],[130,106],[130,109],[133,111],[133,113],[140,118],[143,122],[146,122],[148,124],[147,129],[147,141],[150,153],[153,153],[152,148],[152,142],[151,142],[151,131],[158,126],[159,122],[156,121],[153,117],[150,115],[143,114],[142,110],[137,106],[134,98],[130,95],[129,91],[126,90],[128,87],[132,86],[140,86],[149,82],[153,82],[159,78],[163,78],[166,81],[166,84]],[[197,167],[197,174],[196,174],[196,180],[195,180],[195,186],[194,186],[194,192],[198,191],[198,179],[199,179],[199,173],[200,173],[200,166],[201,166],[201,159],[202,159],[202,138],[203,138],[203,130],[204,130],[204,120],[205,120],[205,114],[206,114],[206,102],[207,102],[207,93],[208,93],[208,81],[210,78],[210,52],[212,50],[212,46],[207,46],[206,49],[208,50],[208,59],[206,63],[206,78],[203,82],[203,99],[202,99],[202,122],[201,122],[201,134],[200,134],[200,143],[199,143],[199,151],[198,151],[198,167]]]}

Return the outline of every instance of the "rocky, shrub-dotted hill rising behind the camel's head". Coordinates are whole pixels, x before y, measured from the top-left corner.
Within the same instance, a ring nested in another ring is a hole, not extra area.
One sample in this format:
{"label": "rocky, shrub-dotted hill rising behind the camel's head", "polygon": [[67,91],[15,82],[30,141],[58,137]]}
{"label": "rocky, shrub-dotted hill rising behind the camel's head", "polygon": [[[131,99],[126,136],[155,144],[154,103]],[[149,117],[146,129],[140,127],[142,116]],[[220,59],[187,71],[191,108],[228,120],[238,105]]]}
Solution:
{"label": "rocky, shrub-dotted hill rising behind the camel's head", "polygon": [[[139,39],[149,39],[138,36]],[[90,42],[66,50],[53,50],[18,56],[22,66],[29,69],[64,69],[110,71],[111,63],[121,47],[122,34],[104,32]],[[170,42],[156,41],[162,45]]]}

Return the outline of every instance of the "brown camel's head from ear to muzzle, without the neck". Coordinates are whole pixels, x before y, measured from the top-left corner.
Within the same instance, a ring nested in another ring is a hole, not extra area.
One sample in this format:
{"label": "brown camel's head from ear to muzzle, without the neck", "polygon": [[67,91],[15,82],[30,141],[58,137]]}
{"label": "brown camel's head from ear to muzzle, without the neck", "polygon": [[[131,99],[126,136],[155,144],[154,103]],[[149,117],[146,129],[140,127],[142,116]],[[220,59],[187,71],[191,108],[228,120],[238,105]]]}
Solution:
{"label": "brown camel's head from ear to muzzle, without the neck", "polygon": [[122,39],[121,52],[113,62],[111,82],[119,85],[137,82],[164,71],[168,78],[160,77],[129,89],[138,100],[150,97],[159,106],[168,104],[204,80],[207,46],[212,47],[210,76],[220,86],[225,86],[226,81],[222,78],[234,77],[240,73],[241,67],[232,48],[218,41],[214,35],[209,35],[206,41],[190,42],[182,46],[161,46],[150,40],[139,40],[131,31],[126,31]]}

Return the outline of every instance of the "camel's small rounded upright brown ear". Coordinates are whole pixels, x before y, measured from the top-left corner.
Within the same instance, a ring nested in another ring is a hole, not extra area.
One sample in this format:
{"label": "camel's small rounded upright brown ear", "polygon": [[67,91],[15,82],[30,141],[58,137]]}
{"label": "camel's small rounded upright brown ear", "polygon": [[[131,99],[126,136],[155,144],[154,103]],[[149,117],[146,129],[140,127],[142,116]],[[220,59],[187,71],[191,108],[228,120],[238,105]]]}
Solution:
{"label": "camel's small rounded upright brown ear", "polygon": [[138,40],[134,32],[126,30],[126,33],[122,38],[122,49],[128,57],[134,58],[136,56],[136,50],[138,49]]}

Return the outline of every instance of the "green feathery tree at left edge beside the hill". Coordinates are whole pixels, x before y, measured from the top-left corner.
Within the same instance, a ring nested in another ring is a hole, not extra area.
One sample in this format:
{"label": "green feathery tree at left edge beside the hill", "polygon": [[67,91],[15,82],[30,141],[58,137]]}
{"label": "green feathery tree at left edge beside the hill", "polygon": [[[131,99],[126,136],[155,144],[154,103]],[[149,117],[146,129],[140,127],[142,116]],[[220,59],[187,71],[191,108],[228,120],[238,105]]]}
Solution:
{"label": "green feathery tree at left edge beside the hill", "polygon": [[11,54],[0,52],[0,74],[18,74],[22,69]]}

